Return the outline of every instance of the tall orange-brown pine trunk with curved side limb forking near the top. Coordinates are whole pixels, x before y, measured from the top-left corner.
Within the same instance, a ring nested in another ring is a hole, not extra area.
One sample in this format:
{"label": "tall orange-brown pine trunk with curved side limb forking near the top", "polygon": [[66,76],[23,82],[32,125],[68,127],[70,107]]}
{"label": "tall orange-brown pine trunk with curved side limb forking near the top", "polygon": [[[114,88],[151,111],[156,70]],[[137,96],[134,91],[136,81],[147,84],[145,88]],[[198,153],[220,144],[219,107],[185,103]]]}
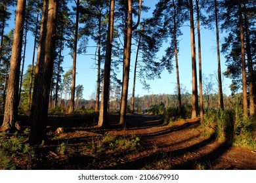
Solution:
{"label": "tall orange-brown pine trunk with curved side limb forking near the top", "polygon": [[119,124],[124,124],[126,120],[130,62],[131,62],[131,37],[132,37],[133,30],[137,29],[140,22],[141,5],[142,5],[142,1],[140,0],[138,21],[137,21],[137,24],[133,27],[133,8],[132,8],[133,6],[132,6],[132,1],[128,0],[128,24],[127,24],[127,42],[126,42],[127,50],[125,52],[125,58],[123,60],[123,86],[122,86],[122,92],[121,92]]}

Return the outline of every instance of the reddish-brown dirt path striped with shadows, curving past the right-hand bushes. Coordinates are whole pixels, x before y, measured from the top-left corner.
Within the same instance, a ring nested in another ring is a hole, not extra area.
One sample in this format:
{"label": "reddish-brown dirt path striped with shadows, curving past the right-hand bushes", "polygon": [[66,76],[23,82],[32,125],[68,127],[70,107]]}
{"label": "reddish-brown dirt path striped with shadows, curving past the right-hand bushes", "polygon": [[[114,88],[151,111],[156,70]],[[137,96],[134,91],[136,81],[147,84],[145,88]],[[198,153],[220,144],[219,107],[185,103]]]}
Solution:
{"label": "reddish-brown dirt path striped with shadows, curving past the right-hand bushes", "polygon": [[255,152],[219,142],[214,133],[202,137],[196,120],[177,122],[170,127],[162,125],[159,116],[137,114],[128,116],[125,127],[108,133],[136,134],[144,150],[127,155],[125,163],[114,169],[147,169],[161,163],[171,169],[256,169]]}

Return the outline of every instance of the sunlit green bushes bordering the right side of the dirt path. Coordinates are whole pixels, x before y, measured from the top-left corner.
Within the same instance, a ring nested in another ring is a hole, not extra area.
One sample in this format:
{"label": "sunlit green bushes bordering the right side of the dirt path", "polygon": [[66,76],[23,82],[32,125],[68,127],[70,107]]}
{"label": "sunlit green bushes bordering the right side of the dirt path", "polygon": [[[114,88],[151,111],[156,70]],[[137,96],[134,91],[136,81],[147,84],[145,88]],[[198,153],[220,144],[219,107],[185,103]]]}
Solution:
{"label": "sunlit green bushes bordering the right side of the dirt path", "polygon": [[238,99],[232,110],[208,110],[203,118],[202,127],[214,129],[218,139],[232,142],[235,146],[256,148],[256,122],[253,116],[243,116]]}

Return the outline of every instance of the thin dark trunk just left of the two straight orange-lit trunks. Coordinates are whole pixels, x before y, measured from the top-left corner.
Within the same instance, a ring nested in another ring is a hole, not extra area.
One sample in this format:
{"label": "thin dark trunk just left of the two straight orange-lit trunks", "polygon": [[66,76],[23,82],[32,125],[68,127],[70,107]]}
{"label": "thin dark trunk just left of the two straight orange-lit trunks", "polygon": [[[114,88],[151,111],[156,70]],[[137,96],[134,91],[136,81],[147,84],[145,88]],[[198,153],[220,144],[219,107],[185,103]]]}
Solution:
{"label": "thin dark trunk just left of the two straight orange-lit trunks", "polygon": [[173,42],[174,42],[174,49],[175,49],[175,64],[176,64],[176,77],[177,77],[177,93],[178,93],[178,113],[181,114],[181,84],[180,84],[180,77],[179,77],[179,61],[178,61],[178,46],[177,46],[177,22],[176,22],[176,5],[173,0],[173,9],[174,9],[174,15],[173,15]]}

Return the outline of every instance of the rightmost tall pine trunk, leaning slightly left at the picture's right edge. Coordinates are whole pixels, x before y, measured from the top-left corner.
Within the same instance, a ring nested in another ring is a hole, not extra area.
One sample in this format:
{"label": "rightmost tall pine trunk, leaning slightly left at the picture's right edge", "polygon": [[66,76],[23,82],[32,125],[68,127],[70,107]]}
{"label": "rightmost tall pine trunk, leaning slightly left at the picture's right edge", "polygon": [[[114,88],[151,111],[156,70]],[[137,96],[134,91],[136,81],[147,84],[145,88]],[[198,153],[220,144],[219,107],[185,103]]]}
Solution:
{"label": "rightmost tall pine trunk, leaning slightly left at the picture's right edge", "polygon": [[248,78],[249,78],[249,114],[253,116],[255,114],[255,103],[253,96],[253,59],[251,58],[251,41],[249,36],[249,26],[246,14],[246,7],[244,3],[244,22],[245,22],[245,41],[246,41],[246,52],[247,52],[247,67],[248,67]]}

